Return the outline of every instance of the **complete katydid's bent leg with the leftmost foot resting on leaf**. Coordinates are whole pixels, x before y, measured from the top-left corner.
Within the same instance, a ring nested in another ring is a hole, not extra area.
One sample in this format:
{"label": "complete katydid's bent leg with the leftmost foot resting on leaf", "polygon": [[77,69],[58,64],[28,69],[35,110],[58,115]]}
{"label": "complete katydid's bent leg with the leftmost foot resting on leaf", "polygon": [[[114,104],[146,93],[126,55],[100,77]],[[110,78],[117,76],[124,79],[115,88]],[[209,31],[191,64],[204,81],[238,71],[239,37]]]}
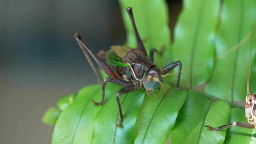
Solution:
{"label": "complete katydid's bent leg with the leftmost foot resting on leaf", "polygon": [[115,84],[120,85],[120,86],[129,86],[129,85],[131,85],[131,82],[128,82],[126,80],[120,80],[120,79],[115,79],[115,78],[107,77],[103,81],[103,84],[102,84],[102,99],[101,99],[101,101],[100,102],[95,102],[94,100],[91,100],[94,105],[102,105],[102,104],[105,103],[105,98],[106,98],[105,97],[106,82],[115,83]]}

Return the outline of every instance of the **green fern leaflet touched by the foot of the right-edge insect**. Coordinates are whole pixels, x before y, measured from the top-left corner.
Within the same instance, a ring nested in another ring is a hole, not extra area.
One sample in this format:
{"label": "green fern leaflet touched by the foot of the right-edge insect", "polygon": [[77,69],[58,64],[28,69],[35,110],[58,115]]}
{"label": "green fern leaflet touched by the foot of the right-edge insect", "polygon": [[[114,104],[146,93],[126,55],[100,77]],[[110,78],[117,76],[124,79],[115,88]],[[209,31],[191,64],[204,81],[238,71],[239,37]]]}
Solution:
{"label": "green fern leaflet touched by the foot of the right-edge insect", "polygon": [[212,101],[201,92],[189,90],[171,132],[171,144],[222,144],[226,131],[209,131],[204,125],[228,123],[229,112],[227,102]]}

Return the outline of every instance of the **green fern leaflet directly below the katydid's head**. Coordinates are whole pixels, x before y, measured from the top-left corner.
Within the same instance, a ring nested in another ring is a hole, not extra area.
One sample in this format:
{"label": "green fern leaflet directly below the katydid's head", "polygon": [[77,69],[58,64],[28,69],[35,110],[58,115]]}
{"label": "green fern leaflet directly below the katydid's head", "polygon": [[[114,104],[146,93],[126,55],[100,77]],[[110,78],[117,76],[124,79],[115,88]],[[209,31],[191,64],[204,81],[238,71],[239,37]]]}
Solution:
{"label": "green fern leaflet directly below the katydid's head", "polygon": [[[166,88],[169,88],[165,85]],[[161,90],[145,96],[136,122],[135,144],[164,144],[171,133],[176,117],[187,96],[186,90],[172,88],[167,96]]]}

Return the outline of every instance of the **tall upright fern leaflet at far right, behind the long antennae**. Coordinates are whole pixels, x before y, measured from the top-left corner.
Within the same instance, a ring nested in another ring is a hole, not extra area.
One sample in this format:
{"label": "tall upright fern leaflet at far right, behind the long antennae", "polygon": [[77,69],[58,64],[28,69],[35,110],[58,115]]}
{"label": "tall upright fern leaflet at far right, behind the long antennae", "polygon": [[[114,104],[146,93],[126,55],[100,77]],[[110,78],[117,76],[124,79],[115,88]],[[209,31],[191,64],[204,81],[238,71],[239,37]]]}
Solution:
{"label": "tall upright fern leaflet at far right, behind the long antennae", "polygon": [[[255,0],[225,0],[223,2],[220,26],[215,41],[216,55],[220,58],[216,60],[212,76],[205,87],[208,94],[232,102],[245,99],[251,45],[250,34],[255,7]],[[256,23],[253,27],[252,61],[256,53]],[[235,45],[238,49],[232,50]],[[228,50],[231,50],[231,53]],[[225,54],[226,52],[228,55]]]}

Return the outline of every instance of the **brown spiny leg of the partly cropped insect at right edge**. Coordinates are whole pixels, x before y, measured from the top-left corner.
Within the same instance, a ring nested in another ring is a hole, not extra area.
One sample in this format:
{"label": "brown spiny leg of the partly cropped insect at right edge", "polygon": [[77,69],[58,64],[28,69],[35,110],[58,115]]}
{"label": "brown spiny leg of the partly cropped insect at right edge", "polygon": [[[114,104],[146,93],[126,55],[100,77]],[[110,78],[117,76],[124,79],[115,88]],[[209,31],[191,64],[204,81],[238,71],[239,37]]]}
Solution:
{"label": "brown spiny leg of the partly cropped insect at right edge", "polygon": [[248,128],[248,129],[254,129],[255,126],[252,123],[245,123],[245,122],[232,122],[217,128],[211,127],[210,125],[205,125],[205,127],[208,130],[215,130],[215,131],[220,131],[220,130],[224,130],[225,128],[230,128],[231,126],[240,126],[243,128]]}

